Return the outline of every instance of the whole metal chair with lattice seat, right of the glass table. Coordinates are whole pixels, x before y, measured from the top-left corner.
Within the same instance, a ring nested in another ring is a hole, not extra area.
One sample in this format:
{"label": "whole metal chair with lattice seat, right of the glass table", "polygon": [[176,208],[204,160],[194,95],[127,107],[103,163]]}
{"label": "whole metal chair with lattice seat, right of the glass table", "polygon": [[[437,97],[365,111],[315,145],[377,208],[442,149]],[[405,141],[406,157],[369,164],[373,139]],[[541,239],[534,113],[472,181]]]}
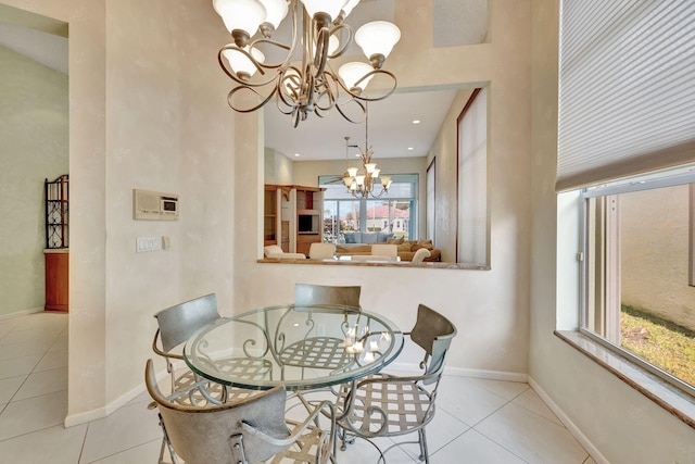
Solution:
{"label": "whole metal chair with lattice seat, right of the glass table", "polygon": [[[343,431],[342,450],[348,441],[346,434],[369,440],[417,431],[419,459],[429,463],[425,429],[434,417],[437,390],[456,327],[437,311],[420,304],[413,330],[404,335],[409,335],[410,340],[424,350],[419,364],[424,372],[413,376],[377,373],[358,381],[354,389],[343,386],[338,407],[350,414],[338,423]],[[393,447],[401,444],[405,443]],[[382,459],[389,449],[381,452]]]}

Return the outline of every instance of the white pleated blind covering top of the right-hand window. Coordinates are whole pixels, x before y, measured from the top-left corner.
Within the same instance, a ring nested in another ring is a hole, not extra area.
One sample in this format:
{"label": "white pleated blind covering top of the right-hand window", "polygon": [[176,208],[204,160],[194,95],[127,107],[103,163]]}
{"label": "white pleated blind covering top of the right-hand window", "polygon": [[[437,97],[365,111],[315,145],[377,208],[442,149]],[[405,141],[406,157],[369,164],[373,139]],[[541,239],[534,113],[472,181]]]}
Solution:
{"label": "white pleated blind covering top of the right-hand window", "polygon": [[563,0],[556,190],[695,161],[695,1]]}

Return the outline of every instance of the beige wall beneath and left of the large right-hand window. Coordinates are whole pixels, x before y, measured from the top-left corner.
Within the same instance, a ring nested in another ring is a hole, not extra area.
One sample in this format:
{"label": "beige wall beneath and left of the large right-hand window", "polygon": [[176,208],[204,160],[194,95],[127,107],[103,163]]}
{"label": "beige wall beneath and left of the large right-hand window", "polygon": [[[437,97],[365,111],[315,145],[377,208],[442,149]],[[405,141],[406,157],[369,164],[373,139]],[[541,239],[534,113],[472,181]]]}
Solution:
{"label": "beige wall beneath and left of the large right-hand window", "polygon": [[[579,243],[573,231],[558,233],[556,223],[558,2],[532,0],[532,4],[533,259],[529,375],[563,411],[564,418],[571,422],[571,428],[593,443],[597,462],[694,462],[695,431],[691,427],[553,335],[556,323],[566,327],[576,319],[578,264],[573,256]],[[494,246],[493,241],[493,250]],[[563,274],[572,277],[569,283],[556,280],[556,262],[561,264]],[[566,298],[568,294],[572,298]]]}

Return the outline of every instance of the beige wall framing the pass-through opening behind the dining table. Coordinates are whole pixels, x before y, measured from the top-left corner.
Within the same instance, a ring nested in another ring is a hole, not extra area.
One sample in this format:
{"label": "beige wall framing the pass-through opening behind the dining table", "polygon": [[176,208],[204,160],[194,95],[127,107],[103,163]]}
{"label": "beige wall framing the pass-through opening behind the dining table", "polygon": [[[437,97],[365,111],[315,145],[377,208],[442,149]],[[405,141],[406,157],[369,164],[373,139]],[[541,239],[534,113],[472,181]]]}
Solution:
{"label": "beige wall framing the pass-through opening behind the dining table", "polygon": [[[459,335],[448,362],[453,373],[525,378],[528,362],[530,269],[530,90],[531,9],[528,1],[496,0],[491,5],[491,43],[431,49],[431,21],[421,0],[395,2],[402,39],[388,67],[403,88],[490,83],[491,271],[416,269],[281,265],[256,263],[249,237],[258,226],[236,227],[235,310],[289,302],[295,283],[361,285],[363,301],[404,329],[413,326],[418,302],[446,314]],[[414,14],[413,12],[416,12]],[[422,61],[425,65],[414,66]],[[437,70],[435,72],[430,72]],[[254,121],[255,120],[255,121]],[[237,117],[244,148],[258,145],[257,117]],[[262,139],[261,139],[262,140]],[[239,150],[239,147],[237,147]],[[260,151],[262,152],[262,151]],[[251,189],[262,164],[238,156],[237,183]],[[386,162],[386,160],[383,160]],[[299,163],[301,164],[301,163]],[[426,167],[426,166],[425,166]],[[295,167],[296,168],[296,167]],[[296,176],[295,176],[296,179]],[[237,198],[240,217],[255,217],[257,199]],[[256,238],[257,240],[257,238]]]}

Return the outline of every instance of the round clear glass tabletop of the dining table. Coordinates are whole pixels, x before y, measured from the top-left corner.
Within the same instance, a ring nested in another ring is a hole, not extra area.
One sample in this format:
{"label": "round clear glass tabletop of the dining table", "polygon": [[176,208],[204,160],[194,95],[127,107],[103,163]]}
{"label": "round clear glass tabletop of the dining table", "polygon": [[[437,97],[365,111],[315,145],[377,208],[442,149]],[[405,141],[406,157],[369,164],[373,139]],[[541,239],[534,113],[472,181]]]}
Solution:
{"label": "round clear glass tabletop of the dining table", "polygon": [[201,328],[184,347],[184,359],[193,372],[224,385],[306,390],[380,371],[402,349],[403,333],[378,314],[287,304]]}

